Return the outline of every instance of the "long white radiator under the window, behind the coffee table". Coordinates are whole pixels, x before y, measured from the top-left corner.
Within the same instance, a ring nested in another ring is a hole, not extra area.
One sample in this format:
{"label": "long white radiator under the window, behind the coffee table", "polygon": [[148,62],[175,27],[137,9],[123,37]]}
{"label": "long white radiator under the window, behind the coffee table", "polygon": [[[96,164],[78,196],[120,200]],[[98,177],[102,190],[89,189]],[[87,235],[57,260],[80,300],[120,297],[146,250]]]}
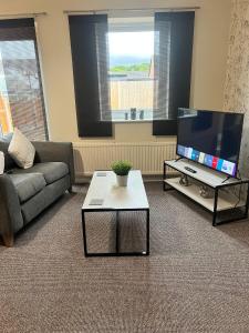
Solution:
{"label": "long white radiator under the window, behind the coffee table", "polygon": [[108,170],[113,161],[128,160],[143,174],[162,174],[163,161],[176,157],[176,144],[145,143],[73,143],[76,179],[91,175],[94,170]]}

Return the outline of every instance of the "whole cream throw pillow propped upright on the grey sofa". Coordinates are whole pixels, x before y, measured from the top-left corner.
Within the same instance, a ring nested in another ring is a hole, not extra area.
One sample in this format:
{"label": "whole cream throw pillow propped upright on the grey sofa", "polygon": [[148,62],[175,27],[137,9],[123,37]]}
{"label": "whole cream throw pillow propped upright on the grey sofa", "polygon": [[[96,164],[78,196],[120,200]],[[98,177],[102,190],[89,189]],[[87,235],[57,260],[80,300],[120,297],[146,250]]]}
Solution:
{"label": "whole cream throw pillow propped upright on the grey sofa", "polygon": [[35,149],[17,128],[13,131],[8,152],[20,168],[29,169],[33,165]]}

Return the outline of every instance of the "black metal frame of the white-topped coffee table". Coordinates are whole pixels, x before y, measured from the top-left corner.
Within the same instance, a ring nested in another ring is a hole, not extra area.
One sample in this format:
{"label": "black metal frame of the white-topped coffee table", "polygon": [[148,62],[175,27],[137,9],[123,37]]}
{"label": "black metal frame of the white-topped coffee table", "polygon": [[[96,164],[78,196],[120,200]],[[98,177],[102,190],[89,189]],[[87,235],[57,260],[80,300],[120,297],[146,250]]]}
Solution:
{"label": "black metal frame of the white-topped coffee table", "polygon": [[[146,212],[146,251],[142,252],[120,252],[120,212]],[[89,252],[86,241],[85,213],[116,212],[116,252]],[[85,256],[131,256],[131,255],[149,255],[149,209],[82,209],[82,232]]]}

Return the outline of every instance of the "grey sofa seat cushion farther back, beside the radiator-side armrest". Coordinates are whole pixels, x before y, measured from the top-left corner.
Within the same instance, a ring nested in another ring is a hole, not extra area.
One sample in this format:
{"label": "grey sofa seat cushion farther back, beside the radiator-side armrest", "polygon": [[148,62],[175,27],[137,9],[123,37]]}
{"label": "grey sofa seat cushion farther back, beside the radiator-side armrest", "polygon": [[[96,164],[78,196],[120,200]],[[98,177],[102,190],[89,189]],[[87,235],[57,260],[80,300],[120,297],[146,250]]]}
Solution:
{"label": "grey sofa seat cushion farther back, beside the radiator-side armrest", "polygon": [[69,167],[64,162],[38,163],[29,169],[15,169],[13,173],[42,173],[46,184],[51,184],[69,173]]}

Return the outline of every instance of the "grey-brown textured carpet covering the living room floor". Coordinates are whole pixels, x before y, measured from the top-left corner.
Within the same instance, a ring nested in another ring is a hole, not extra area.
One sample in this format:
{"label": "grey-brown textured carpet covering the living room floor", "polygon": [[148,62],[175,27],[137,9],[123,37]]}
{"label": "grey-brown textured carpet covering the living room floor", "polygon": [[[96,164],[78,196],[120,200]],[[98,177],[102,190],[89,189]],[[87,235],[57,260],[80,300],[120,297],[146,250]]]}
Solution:
{"label": "grey-brown textured carpet covering the living room floor", "polygon": [[[248,221],[212,228],[180,194],[146,188],[148,258],[84,258],[86,186],[0,245],[0,332],[249,332]],[[135,219],[124,218],[124,248],[143,248]],[[97,251],[113,246],[106,221],[89,222]]]}

